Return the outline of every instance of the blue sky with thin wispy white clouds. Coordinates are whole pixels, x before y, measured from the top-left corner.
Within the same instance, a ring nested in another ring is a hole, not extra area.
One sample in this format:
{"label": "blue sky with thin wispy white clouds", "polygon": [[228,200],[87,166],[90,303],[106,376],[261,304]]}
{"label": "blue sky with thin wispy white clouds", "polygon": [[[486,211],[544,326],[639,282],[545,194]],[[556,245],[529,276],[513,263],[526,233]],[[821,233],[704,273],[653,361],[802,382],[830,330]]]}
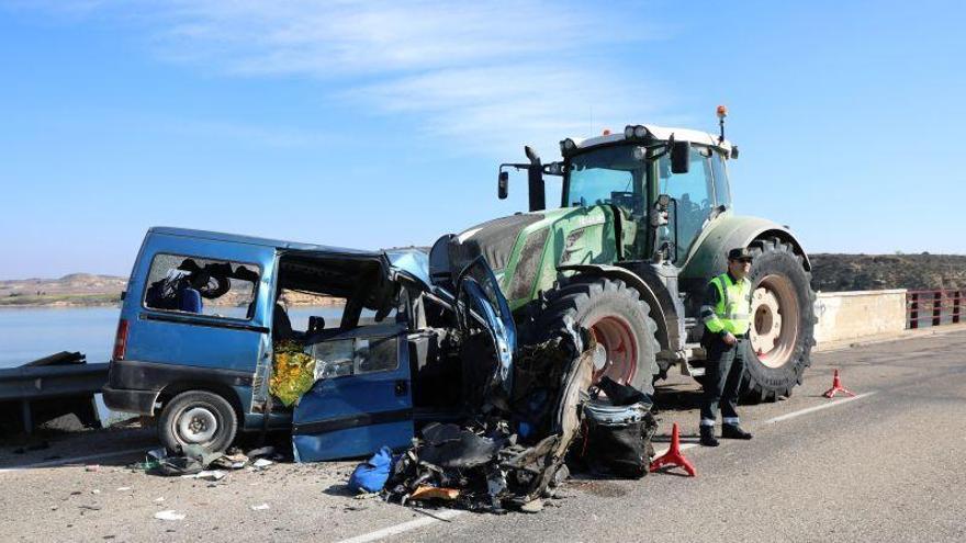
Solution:
{"label": "blue sky with thin wispy white clouds", "polygon": [[809,252],[966,253],[964,20],[930,0],[0,0],[0,279],[127,275],[150,226],[428,246],[526,208],[525,176],[495,194],[525,144],[549,161],[627,124],[714,132],[718,104],[738,213]]}

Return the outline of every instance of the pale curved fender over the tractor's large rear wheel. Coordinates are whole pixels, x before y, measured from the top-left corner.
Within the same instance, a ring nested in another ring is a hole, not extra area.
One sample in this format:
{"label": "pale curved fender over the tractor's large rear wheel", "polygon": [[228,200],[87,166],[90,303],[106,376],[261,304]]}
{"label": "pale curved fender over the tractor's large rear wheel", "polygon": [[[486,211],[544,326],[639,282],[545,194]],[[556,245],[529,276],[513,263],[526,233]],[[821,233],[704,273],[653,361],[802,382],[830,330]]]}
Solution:
{"label": "pale curved fender over the tractor's large rear wheel", "polygon": [[787,227],[765,218],[727,215],[712,220],[698,237],[695,249],[682,267],[682,286],[703,292],[711,278],[728,269],[730,249],[748,247],[757,239],[773,237],[790,244],[795,252],[801,254],[805,271],[811,271],[808,254]]}

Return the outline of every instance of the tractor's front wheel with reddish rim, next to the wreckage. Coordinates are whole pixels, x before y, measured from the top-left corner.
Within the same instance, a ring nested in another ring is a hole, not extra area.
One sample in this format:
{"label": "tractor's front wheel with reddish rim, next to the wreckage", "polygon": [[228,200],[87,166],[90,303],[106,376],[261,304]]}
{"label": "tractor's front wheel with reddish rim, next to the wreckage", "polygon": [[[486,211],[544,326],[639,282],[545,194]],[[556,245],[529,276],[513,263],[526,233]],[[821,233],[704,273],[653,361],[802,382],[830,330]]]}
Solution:
{"label": "tractor's front wheel with reddish rim, next to the wreckage", "polygon": [[644,394],[654,393],[660,350],[651,308],[624,281],[576,276],[547,293],[548,304],[537,323],[546,338],[587,328],[604,347],[607,361],[593,382],[609,376]]}

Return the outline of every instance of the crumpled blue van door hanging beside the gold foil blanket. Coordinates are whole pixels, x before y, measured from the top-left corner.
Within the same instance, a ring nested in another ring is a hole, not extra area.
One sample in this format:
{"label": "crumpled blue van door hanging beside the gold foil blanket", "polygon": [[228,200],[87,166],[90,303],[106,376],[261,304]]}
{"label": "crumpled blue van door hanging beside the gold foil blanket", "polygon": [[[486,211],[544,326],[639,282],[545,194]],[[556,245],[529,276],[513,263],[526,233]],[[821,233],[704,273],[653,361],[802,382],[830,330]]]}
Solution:
{"label": "crumpled blue van door hanging beside the gold foil blanket", "polygon": [[292,416],[297,462],[371,454],[408,446],[413,399],[406,326],[362,326],[305,350],[316,382]]}

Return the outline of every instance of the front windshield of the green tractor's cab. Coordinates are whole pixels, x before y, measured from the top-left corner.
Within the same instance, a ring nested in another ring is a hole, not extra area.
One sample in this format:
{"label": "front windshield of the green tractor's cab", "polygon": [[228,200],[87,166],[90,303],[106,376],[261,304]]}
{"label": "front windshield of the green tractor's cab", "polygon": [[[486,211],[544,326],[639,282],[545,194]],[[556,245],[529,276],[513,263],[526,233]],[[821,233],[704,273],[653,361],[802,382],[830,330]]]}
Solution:
{"label": "front windshield of the green tractor's cab", "polygon": [[621,145],[582,152],[570,161],[564,204],[614,204],[629,215],[643,215],[645,199],[641,188],[645,168],[640,147]]}

